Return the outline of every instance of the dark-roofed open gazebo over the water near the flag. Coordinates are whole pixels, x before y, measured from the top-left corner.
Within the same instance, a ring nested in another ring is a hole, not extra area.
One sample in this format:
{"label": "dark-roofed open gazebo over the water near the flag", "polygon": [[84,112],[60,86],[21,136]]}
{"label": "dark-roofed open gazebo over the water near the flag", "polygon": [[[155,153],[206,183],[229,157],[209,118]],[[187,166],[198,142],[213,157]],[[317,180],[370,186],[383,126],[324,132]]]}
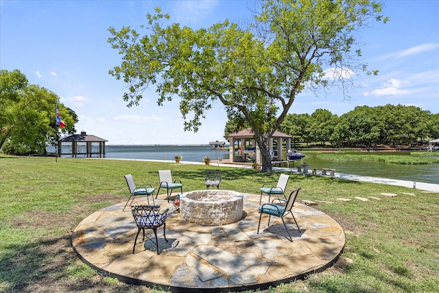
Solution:
{"label": "dark-roofed open gazebo over the water near the flag", "polygon": [[[58,155],[71,155],[73,158],[78,154],[83,154],[86,158],[91,158],[95,154],[99,158],[105,158],[106,141],[106,139],[88,135],[82,131],[81,134],[72,134],[60,139],[58,141]],[[62,148],[62,143],[64,143],[64,148]]]}

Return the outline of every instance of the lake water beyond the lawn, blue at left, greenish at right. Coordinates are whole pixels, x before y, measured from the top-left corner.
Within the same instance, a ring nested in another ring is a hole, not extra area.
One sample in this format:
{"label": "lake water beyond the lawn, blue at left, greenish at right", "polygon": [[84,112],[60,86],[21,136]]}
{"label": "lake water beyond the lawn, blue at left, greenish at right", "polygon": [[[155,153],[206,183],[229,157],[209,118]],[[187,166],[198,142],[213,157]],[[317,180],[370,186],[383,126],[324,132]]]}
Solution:
{"label": "lake water beyond the lawn, blue at left, greenish at right", "polygon": [[[47,151],[54,152],[54,149],[47,148]],[[398,154],[403,154],[403,152],[398,152]],[[200,162],[204,156],[209,156],[212,160],[229,159],[228,151],[215,150],[209,145],[106,145],[106,158],[108,159],[174,161],[176,155],[183,156],[182,161],[190,162]],[[377,161],[339,161],[319,159],[314,154],[305,156],[302,161],[306,161],[310,169],[332,168],[336,169],[337,173],[439,184],[439,164],[401,165]],[[300,163],[297,161],[294,165]]]}

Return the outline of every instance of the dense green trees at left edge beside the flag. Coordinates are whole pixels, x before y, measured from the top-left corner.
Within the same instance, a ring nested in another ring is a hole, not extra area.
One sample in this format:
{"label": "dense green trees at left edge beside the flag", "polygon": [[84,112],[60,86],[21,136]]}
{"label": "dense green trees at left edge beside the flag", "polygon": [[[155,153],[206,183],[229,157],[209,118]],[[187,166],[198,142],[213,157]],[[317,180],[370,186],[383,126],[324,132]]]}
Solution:
{"label": "dense green trees at left edge beside the flag", "polygon": [[[5,154],[45,154],[62,133],[75,133],[78,116],[55,93],[29,84],[19,70],[0,70],[0,150]],[[65,127],[56,126],[56,104]]]}

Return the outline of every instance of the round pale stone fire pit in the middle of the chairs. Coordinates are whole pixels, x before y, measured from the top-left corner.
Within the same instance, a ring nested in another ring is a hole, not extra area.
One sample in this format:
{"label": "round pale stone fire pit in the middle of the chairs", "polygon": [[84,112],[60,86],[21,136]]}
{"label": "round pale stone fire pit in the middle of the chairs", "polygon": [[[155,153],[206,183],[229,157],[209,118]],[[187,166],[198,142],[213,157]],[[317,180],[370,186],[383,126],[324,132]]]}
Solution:
{"label": "round pale stone fire pit in the middle of the chairs", "polygon": [[242,218],[243,196],[230,190],[198,190],[180,196],[181,218],[200,225],[226,225]]}

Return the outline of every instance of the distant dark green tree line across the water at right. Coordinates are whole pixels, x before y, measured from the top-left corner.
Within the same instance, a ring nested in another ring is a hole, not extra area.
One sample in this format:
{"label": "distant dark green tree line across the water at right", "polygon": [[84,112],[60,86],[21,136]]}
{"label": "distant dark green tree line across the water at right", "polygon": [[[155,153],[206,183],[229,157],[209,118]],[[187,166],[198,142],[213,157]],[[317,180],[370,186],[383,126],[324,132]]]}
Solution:
{"label": "distant dark green tree line across the water at right", "polygon": [[279,130],[291,135],[294,144],[331,143],[337,148],[416,146],[439,138],[439,113],[401,104],[357,106],[340,117],[318,109],[311,115],[288,114]]}

